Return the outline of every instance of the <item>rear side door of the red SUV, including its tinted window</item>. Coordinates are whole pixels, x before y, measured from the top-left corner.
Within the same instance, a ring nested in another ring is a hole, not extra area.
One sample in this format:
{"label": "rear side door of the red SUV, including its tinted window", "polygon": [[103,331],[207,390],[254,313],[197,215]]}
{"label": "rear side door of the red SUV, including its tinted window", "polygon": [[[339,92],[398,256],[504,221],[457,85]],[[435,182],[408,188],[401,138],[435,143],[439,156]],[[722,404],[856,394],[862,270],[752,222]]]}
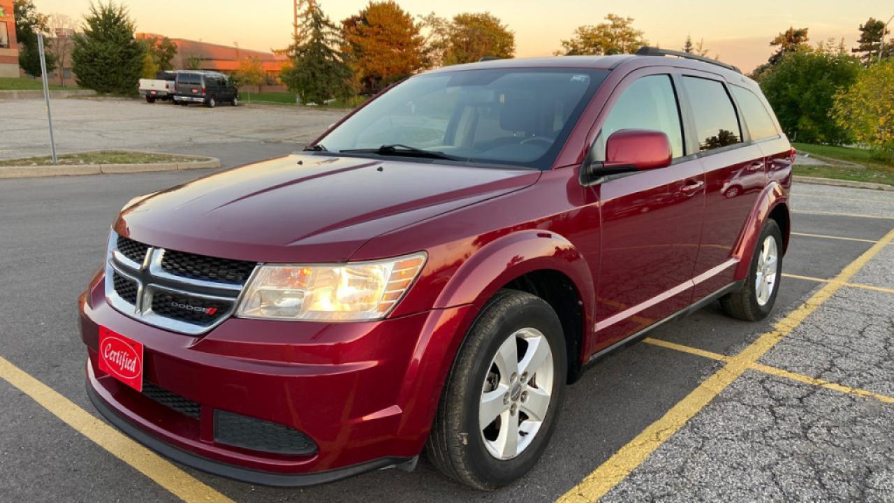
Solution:
{"label": "rear side door of the red SUV, including its tinted window", "polygon": [[679,81],[691,109],[690,145],[705,172],[704,228],[694,276],[697,302],[733,282],[733,252],[767,183],[766,159],[749,137],[725,81],[690,71]]}

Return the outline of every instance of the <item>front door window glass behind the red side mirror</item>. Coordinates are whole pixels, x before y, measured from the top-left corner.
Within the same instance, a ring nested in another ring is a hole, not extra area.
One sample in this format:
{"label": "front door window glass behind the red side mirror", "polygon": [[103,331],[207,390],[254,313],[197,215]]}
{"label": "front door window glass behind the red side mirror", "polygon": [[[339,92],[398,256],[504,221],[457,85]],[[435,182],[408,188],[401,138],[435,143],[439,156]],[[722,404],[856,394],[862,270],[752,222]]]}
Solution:
{"label": "front door window glass behind the red side mirror", "polygon": [[620,95],[594,145],[595,160],[605,159],[605,140],[622,129],[661,131],[671,140],[673,157],[683,156],[679,107],[670,75],[637,79]]}

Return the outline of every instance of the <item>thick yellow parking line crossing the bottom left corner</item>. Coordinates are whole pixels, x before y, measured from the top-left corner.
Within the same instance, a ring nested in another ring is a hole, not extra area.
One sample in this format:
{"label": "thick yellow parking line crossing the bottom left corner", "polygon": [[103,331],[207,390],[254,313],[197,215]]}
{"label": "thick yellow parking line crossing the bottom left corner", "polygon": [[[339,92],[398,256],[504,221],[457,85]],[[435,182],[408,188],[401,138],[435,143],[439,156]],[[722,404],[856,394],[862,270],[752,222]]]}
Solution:
{"label": "thick yellow parking line crossing the bottom left corner", "polygon": [[199,482],[189,473],[182,471],[148,448],[144,448],[112,426],[99,421],[71,400],[60,395],[55,389],[34,379],[2,356],[0,356],[0,378],[30,396],[39,405],[54,413],[56,417],[99,447],[131,465],[165,490],[169,490],[177,498],[189,503],[193,501],[232,502],[232,499]]}

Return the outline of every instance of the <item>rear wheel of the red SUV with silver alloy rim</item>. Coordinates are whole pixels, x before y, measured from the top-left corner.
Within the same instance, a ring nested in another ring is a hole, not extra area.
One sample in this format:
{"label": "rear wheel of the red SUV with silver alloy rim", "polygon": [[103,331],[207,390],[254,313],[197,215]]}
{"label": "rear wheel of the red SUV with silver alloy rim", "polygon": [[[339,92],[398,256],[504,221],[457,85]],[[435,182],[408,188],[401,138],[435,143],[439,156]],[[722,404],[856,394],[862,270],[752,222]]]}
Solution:
{"label": "rear wheel of the red SUV with silver alloy rim", "polygon": [[770,314],[782,278],[782,231],[775,220],[763,224],[745,286],[721,297],[721,308],[738,320],[758,321]]}

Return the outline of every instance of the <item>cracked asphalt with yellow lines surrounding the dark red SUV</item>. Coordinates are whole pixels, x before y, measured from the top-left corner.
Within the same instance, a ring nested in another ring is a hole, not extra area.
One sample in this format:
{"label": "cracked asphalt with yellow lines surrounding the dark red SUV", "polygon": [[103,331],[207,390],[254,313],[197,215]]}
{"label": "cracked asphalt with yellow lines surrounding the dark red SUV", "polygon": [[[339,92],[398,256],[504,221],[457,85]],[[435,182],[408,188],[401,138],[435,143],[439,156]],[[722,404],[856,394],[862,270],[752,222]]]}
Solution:
{"label": "cracked asphalt with yellow lines surrounding the dark red SUV", "polygon": [[467,490],[423,459],[283,490],[135,448],[84,392],[76,299],[116,211],[205,174],[0,181],[0,501],[894,501],[892,192],[798,184],[772,319],[710,305],[604,358],[515,485]]}

